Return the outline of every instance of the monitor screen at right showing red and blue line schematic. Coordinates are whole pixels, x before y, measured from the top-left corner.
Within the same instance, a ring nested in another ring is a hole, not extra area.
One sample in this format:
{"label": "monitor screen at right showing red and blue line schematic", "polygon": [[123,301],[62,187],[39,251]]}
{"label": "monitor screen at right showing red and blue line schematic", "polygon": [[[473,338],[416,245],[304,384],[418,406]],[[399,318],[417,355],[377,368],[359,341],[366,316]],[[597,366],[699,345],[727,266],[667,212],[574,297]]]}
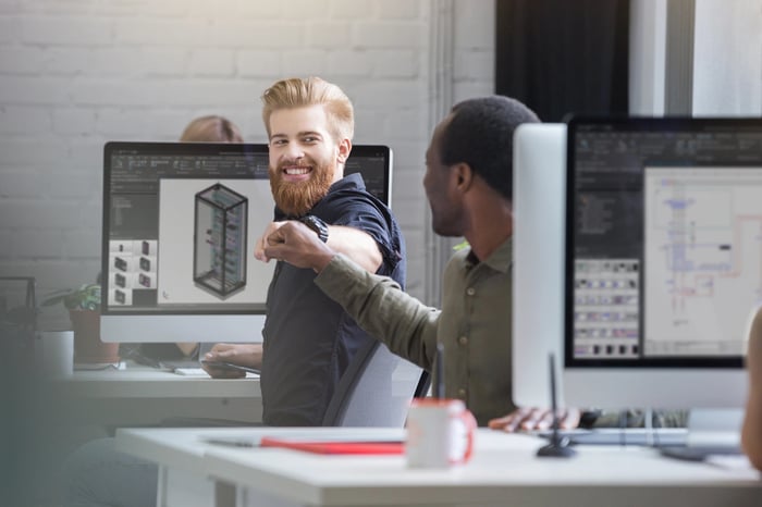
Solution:
{"label": "monitor screen at right showing red and blue line schematic", "polygon": [[741,356],[762,299],[762,121],[581,119],[568,140],[573,360]]}

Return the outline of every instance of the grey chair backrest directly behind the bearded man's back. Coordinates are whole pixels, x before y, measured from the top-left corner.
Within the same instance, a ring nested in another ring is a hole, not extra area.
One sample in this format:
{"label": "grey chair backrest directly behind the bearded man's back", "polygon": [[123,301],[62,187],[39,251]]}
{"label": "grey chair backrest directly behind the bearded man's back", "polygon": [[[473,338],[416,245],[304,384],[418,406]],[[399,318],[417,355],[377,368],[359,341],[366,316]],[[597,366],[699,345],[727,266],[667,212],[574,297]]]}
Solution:
{"label": "grey chair backrest directly behind the bearded man's back", "polygon": [[355,355],[325,410],[324,426],[403,428],[415,396],[423,396],[429,374],[372,341]]}

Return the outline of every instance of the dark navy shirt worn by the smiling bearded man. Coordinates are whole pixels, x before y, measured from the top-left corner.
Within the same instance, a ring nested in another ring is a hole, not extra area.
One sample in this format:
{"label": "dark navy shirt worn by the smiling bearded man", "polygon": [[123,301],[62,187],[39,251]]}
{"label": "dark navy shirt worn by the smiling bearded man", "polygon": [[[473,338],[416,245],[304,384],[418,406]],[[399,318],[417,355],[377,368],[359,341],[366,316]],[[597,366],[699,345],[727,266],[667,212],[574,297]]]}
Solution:
{"label": "dark navy shirt worn by the smiling bearded man", "polygon": [[[308,214],[370,234],[383,262],[378,274],[404,287],[405,243],[389,209],[365,189],[359,174],[334,183]],[[286,220],[275,210],[275,220]],[[311,269],[278,262],[268,290],[260,386],[267,425],[321,425],[328,404],[355,353],[374,339],[314,283]]]}

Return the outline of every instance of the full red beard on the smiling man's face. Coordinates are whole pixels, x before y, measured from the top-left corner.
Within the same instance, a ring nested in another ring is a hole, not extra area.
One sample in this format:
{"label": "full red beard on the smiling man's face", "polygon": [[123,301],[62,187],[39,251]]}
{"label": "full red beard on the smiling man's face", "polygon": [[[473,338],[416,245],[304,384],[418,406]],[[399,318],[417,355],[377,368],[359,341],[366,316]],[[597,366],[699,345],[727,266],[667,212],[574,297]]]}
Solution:
{"label": "full red beard on the smiling man's face", "polygon": [[325,197],[333,183],[333,168],[317,165],[306,161],[312,168],[308,180],[286,182],[283,169],[270,168],[270,189],[278,208],[291,217],[303,217]]}

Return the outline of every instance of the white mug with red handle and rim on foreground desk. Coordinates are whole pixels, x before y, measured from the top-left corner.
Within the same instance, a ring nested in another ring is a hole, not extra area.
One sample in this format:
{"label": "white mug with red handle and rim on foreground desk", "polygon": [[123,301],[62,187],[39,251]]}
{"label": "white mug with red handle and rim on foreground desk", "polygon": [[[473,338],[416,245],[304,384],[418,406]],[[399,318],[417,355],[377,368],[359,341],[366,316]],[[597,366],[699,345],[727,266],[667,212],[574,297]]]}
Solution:
{"label": "white mug with red handle and rim on foreground desk", "polygon": [[460,399],[414,399],[407,412],[407,466],[447,468],[465,463],[471,457],[476,428],[474,415]]}

